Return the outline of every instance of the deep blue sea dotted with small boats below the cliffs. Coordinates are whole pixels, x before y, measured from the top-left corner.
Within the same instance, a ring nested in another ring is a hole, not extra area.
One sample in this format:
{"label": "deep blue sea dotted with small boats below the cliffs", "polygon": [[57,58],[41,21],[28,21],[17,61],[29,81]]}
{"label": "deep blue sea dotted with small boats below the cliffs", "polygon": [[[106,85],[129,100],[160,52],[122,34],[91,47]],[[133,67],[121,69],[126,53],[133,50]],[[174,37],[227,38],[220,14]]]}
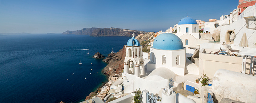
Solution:
{"label": "deep blue sea dotted with small boats below the cliffs", "polygon": [[107,81],[101,73],[107,64],[92,56],[100,52],[107,57],[112,48],[118,52],[130,38],[60,34],[0,36],[0,103],[84,101]]}

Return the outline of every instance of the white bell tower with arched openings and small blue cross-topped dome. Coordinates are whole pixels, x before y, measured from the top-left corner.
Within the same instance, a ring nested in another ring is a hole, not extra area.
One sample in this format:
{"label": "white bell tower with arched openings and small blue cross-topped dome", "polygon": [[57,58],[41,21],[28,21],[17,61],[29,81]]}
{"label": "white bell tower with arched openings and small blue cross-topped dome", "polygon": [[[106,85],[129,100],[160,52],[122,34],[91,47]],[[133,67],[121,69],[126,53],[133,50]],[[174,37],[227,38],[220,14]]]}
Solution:
{"label": "white bell tower with arched openings and small blue cross-topped dome", "polygon": [[134,34],[132,36],[132,39],[129,39],[125,45],[124,75],[129,73],[140,77],[140,75],[144,75],[145,73],[142,46],[135,39]]}

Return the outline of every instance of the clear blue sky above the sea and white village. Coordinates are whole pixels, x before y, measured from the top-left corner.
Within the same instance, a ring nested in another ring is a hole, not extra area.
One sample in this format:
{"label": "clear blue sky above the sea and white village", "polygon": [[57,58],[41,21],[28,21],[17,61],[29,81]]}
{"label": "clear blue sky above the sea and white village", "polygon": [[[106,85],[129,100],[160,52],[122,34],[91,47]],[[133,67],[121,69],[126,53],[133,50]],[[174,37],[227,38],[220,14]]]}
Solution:
{"label": "clear blue sky above the sea and white village", "polygon": [[238,0],[0,0],[0,33],[62,33],[82,28],[165,31],[182,18],[208,21]]}

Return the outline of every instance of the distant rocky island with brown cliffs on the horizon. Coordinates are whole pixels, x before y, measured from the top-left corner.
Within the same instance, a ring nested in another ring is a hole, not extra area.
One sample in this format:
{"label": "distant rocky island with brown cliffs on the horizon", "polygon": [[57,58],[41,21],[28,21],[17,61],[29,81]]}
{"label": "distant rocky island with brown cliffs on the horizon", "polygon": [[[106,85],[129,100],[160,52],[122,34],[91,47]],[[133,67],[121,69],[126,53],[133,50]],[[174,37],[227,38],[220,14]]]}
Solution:
{"label": "distant rocky island with brown cliffs on the horizon", "polygon": [[139,30],[129,30],[123,28],[83,28],[82,30],[66,31],[62,34],[74,34],[74,35],[90,35],[90,36],[127,36],[132,34],[137,36],[138,34],[148,33]]}

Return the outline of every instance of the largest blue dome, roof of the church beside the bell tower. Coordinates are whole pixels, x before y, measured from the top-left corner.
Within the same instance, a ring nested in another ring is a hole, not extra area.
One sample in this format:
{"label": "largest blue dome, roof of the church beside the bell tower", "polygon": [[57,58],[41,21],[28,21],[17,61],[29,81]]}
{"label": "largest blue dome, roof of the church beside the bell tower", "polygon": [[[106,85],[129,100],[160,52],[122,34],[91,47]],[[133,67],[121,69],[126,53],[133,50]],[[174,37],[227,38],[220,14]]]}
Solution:
{"label": "largest blue dome, roof of the church beside the bell tower", "polygon": [[164,33],[155,38],[153,48],[160,50],[179,50],[183,49],[183,43],[175,34]]}

